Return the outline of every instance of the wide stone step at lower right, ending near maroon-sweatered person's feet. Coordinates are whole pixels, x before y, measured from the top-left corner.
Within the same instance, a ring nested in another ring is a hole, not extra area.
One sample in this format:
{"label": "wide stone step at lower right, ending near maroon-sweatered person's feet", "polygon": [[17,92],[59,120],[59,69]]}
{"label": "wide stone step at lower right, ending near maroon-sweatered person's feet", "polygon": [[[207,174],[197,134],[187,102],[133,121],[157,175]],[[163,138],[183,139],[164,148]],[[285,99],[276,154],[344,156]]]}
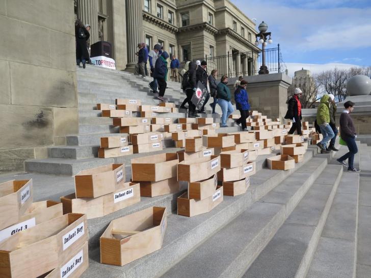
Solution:
{"label": "wide stone step at lower right, ending near maroon-sweatered person's feet", "polygon": [[358,188],[359,174],[344,172],[308,268],[308,278],[355,277]]}

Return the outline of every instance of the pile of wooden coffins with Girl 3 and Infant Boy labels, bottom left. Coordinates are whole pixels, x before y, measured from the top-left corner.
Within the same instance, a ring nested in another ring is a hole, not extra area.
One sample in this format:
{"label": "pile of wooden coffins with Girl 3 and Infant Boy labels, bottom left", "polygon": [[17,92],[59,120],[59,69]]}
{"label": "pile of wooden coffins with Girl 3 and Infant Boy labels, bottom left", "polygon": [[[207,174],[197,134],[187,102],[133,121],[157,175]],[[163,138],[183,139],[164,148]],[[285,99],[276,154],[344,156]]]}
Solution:
{"label": "pile of wooden coffins with Girl 3 and Infant Boy labels, bottom left", "polygon": [[89,266],[86,215],[32,203],[32,180],[0,184],[2,277],[80,276]]}

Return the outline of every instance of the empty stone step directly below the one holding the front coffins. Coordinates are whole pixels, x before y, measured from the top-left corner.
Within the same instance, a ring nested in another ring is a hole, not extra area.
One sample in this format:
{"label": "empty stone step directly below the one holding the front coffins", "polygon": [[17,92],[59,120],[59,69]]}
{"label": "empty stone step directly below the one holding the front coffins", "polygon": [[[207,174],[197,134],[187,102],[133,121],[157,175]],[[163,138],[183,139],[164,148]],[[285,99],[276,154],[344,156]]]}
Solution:
{"label": "empty stone step directly below the one holding the front coffins", "polygon": [[[297,171],[279,180],[272,190],[260,194],[256,199],[258,202],[253,203],[250,208],[245,208],[228,225],[169,269],[163,277],[186,273],[186,269],[188,277],[198,277],[200,273],[202,273],[200,276],[204,277],[240,277],[281,227],[326,165],[326,159],[315,157],[301,168],[296,168]],[[313,171],[308,171],[309,169]],[[252,180],[253,178],[254,176]],[[206,254],[210,262],[207,264],[202,259]]]}

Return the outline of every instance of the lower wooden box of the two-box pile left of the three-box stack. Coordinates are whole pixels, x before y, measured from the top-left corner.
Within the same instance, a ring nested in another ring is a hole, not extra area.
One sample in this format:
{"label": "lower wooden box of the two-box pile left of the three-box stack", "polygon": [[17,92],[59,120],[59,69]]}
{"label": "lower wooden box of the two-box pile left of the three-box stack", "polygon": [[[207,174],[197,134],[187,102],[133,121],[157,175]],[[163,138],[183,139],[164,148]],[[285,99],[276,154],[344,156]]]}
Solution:
{"label": "lower wooden box of the two-box pile left of the three-box stack", "polygon": [[162,181],[140,181],[142,197],[157,197],[179,192],[179,182],[176,177]]}

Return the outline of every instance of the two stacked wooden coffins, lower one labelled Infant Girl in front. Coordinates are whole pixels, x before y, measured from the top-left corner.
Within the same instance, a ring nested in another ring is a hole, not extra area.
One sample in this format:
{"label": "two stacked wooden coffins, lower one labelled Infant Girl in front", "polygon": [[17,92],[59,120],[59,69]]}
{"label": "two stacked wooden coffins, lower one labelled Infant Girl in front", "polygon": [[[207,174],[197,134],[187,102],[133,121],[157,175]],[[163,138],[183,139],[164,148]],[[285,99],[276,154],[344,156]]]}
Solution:
{"label": "two stacked wooden coffins, lower one labelled Infant Girl in front", "polygon": [[101,217],[140,202],[138,183],[125,182],[124,164],[108,164],[75,175],[75,193],[61,197],[63,213]]}

